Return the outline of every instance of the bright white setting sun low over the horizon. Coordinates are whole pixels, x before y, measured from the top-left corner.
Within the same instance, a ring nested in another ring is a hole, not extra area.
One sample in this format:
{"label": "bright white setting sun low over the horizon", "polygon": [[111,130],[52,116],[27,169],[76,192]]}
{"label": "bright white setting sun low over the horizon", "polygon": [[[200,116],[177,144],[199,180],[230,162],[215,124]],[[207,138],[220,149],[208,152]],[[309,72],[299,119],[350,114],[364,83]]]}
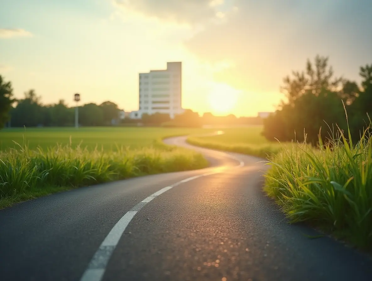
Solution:
{"label": "bright white setting sun low over the horizon", "polygon": [[208,99],[213,113],[229,114],[237,102],[237,90],[226,84],[215,84]]}

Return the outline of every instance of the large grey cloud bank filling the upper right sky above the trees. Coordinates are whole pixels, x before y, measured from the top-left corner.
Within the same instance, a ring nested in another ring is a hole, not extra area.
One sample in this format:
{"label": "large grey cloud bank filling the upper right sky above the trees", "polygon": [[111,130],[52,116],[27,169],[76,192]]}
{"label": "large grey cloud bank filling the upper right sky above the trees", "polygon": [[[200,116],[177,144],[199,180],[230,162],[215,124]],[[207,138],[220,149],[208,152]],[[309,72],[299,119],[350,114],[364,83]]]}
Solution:
{"label": "large grey cloud bank filling the upper right sky above the trees", "polygon": [[336,71],[357,77],[372,62],[370,0],[236,0],[235,13],[185,42],[203,62],[230,61],[215,79],[246,91],[278,91],[282,77],[317,53]]}

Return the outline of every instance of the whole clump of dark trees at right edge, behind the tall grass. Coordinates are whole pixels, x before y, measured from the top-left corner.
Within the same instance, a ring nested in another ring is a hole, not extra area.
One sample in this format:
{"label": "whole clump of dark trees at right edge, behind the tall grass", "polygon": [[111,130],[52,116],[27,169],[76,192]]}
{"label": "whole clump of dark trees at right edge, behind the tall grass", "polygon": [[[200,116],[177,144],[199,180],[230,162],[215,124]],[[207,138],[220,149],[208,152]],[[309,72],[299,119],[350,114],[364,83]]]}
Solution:
{"label": "whole clump of dark trees at right edge, behind the tall grass", "polygon": [[328,57],[308,59],[304,71],[283,78],[286,100],[264,120],[262,134],[272,141],[300,142],[306,134],[307,142],[316,145],[319,135],[327,141],[339,135],[339,128],[348,136],[349,128],[351,137],[360,139],[372,118],[372,64],[360,66],[359,75],[360,84],[335,77]]}

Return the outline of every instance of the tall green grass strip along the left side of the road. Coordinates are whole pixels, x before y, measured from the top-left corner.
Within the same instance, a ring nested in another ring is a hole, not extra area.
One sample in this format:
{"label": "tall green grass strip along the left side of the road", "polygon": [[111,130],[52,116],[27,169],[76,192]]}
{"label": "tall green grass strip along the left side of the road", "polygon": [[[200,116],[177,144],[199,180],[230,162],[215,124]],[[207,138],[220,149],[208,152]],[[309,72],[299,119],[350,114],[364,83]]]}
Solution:
{"label": "tall green grass strip along the left side of the road", "polygon": [[19,145],[0,151],[0,208],[58,190],[206,166],[201,154],[165,145],[108,152],[71,144],[33,150]]}

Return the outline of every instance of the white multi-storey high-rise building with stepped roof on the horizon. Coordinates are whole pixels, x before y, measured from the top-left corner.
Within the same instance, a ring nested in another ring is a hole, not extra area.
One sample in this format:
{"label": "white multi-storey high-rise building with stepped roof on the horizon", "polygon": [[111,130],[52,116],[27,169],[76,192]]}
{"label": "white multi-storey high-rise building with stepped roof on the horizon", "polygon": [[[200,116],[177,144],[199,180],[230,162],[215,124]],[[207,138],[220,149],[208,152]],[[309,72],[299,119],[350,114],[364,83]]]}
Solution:
{"label": "white multi-storey high-rise building with stepped roof on the horizon", "polygon": [[140,73],[139,83],[139,110],[131,112],[131,118],[160,112],[173,119],[174,115],[183,112],[182,62],[167,62],[165,70]]}

